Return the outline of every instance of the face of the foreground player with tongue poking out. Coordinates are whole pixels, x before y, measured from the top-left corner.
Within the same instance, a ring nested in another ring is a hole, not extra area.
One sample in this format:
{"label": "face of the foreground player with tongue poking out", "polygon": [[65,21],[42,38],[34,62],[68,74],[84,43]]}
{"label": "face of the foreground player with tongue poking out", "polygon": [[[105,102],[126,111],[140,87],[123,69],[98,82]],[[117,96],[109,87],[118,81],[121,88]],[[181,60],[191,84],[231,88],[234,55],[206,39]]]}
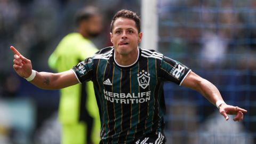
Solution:
{"label": "face of the foreground player with tongue poking out", "polygon": [[136,23],[132,19],[117,18],[110,33],[111,43],[118,54],[127,55],[137,50],[142,33],[138,33]]}

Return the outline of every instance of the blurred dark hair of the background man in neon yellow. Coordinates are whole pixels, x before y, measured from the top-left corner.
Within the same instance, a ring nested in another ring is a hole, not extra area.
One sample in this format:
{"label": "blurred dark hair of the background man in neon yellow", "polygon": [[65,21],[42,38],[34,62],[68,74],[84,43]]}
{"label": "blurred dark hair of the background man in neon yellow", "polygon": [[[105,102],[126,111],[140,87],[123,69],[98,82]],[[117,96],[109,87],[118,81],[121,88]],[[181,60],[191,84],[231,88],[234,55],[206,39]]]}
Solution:
{"label": "blurred dark hair of the background man in neon yellow", "polygon": [[99,13],[100,12],[99,9],[97,9],[97,7],[86,6],[76,13],[76,24],[78,25],[79,22],[81,22],[82,20],[88,20],[92,16],[97,15]]}

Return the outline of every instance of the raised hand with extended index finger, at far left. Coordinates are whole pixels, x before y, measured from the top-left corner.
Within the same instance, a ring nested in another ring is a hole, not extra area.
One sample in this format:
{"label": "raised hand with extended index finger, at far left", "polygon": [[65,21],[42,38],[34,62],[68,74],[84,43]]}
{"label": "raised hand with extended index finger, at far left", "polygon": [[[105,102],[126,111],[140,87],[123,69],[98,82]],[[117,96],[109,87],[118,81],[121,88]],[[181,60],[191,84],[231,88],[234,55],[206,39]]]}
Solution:
{"label": "raised hand with extended index finger, at far left", "polygon": [[23,57],[13,46],[11,46],[10,49],[14,53],[13,68],[16,73],[24,78],[29,77],[32,73],[31,61]]}

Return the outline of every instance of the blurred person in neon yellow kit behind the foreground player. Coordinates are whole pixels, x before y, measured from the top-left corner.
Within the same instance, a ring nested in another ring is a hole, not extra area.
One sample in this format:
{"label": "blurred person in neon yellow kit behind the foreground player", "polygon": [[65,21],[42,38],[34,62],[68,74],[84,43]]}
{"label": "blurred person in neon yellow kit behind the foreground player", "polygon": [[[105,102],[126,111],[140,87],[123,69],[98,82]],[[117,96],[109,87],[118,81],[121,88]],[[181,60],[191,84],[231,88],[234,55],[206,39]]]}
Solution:
{"label": "blurred person in neon yellow kit behind the foreground player", "polygon": [[[98,36],[102,29],[98,9],[87,6],[79,10],[76,23],[77,33],[65,36],[49,58],[49,66],[59,73],[99,51],[89,39]],[[99,143],[100,116],[92,82],[66,87],[60,94],[61,143]]]}

